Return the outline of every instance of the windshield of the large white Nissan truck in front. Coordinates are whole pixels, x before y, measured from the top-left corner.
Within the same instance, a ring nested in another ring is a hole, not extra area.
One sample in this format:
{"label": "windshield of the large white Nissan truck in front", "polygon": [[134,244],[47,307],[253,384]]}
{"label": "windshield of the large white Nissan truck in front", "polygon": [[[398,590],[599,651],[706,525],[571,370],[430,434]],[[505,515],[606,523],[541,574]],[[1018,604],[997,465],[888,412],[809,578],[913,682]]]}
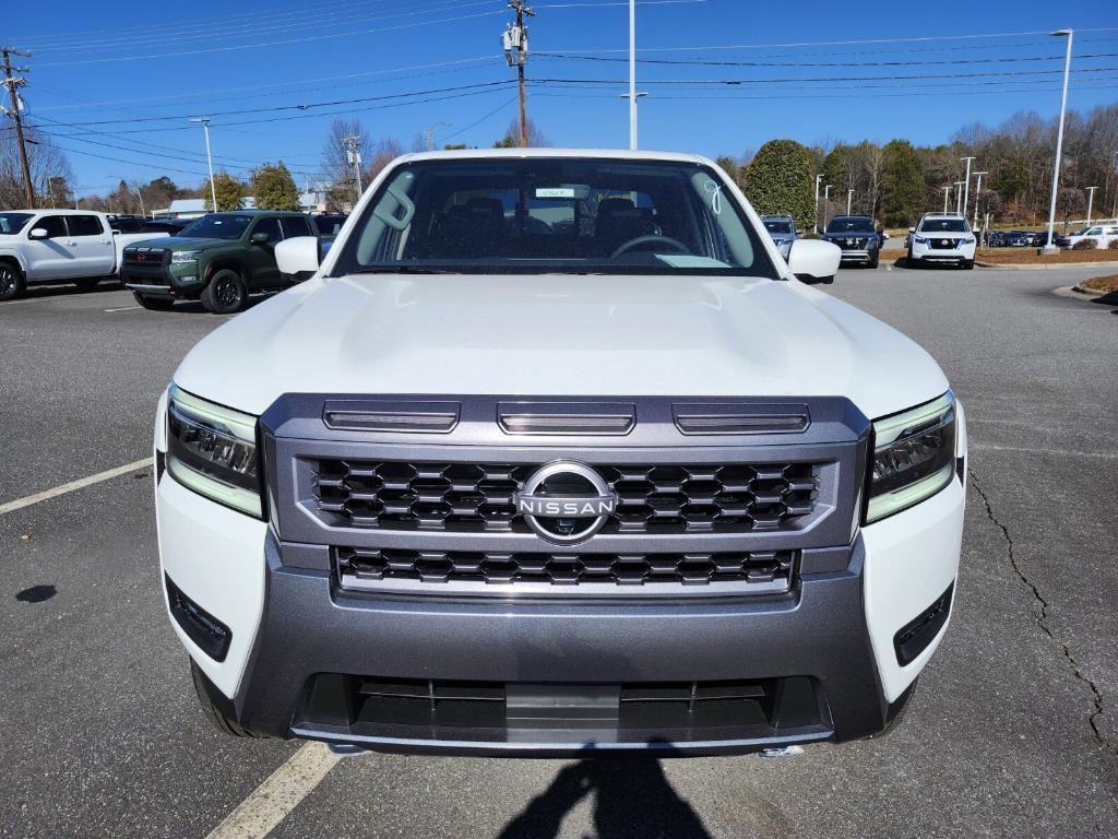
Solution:
{"label": "windshield of the large white Nissan truck in front", "polygon": [[697,163],[427,160],[392,170],[335,275],[367,272],[777,277],[733,198]]}

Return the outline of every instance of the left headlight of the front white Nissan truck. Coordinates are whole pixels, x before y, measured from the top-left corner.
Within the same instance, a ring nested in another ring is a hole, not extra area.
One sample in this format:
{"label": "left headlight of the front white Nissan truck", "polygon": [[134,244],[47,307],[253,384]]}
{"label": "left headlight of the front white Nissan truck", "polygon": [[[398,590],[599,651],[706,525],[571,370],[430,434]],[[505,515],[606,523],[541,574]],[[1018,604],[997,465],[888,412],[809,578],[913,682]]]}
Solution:
{"label": "left headlight of the front white Nissan truck", "polygon": [[264,517],[255,416],[215,405],[171,385],[167,470],[200,496]]}

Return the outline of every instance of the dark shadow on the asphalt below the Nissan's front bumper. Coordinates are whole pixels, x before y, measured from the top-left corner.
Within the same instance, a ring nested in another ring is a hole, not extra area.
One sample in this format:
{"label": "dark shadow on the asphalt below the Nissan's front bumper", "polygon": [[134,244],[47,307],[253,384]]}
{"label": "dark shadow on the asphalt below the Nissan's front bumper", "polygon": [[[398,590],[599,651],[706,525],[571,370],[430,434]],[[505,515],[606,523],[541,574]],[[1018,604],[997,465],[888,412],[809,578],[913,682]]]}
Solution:
{"label": "dark shadow on the asphalt below the Nissan's front bumper", "polygon": [[505,826],[500,839],[555,839],[567,813],[591,793],[598,839],[711,839],[691,804],[667,782],[660,761],[650,757],[597,757],[567,766]]}

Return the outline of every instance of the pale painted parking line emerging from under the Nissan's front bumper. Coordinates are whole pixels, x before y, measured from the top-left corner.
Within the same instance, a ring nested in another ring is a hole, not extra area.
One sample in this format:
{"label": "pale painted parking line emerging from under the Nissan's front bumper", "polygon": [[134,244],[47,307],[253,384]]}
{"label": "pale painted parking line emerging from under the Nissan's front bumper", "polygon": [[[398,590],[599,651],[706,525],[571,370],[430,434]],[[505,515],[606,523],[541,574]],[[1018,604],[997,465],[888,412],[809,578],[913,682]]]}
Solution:
{"label": "pale painted parking line emerging from under the Nissan's front bumper", "polygon": [[305,743],[226,816],[206,839],[263,839],[287,818],[340,760],[341,756],[323,743]]}

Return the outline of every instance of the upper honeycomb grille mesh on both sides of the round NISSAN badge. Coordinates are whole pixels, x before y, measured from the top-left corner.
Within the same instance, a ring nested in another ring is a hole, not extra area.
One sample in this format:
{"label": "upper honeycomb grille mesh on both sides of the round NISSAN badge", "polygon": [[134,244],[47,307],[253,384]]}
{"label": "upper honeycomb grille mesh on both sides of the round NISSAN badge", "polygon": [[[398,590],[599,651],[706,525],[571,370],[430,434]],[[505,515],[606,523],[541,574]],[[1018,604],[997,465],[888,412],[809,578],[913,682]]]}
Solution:
{"label": "upper honeycomb grille mesh on both sides of the round NISSAN badge", "polygon": [[[539,466],[323,459],[312,491],[338,527],[529,532],[513,496]],[[595,469],[619,499],[605,534],[788,529],[815,509],[818,484],[813,463]]]}

